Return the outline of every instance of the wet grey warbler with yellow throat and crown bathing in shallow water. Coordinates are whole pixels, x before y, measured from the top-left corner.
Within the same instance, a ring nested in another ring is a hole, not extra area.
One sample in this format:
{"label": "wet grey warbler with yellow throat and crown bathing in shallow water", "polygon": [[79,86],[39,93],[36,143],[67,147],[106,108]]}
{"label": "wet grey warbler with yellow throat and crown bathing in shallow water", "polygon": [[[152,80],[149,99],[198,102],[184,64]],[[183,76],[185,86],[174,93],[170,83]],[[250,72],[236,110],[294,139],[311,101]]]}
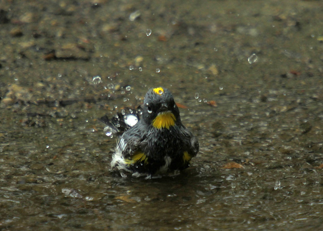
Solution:
{"label": "wet grey warbler with yellow throat and crown bathing in shallow water", "polygon": [[140,120],[138,112],[130,111],[125,115],[118,113],[113,120],[106,116],[101,118],[110,134],[121,132],[121,127],[130,127],[115,148],[111,162],[113,169],[131,172],[134,177],[151,178],[175,175],[189,166],[199,144],[182,124],[179,109],[168,89],[158,87],[148,90]]}

